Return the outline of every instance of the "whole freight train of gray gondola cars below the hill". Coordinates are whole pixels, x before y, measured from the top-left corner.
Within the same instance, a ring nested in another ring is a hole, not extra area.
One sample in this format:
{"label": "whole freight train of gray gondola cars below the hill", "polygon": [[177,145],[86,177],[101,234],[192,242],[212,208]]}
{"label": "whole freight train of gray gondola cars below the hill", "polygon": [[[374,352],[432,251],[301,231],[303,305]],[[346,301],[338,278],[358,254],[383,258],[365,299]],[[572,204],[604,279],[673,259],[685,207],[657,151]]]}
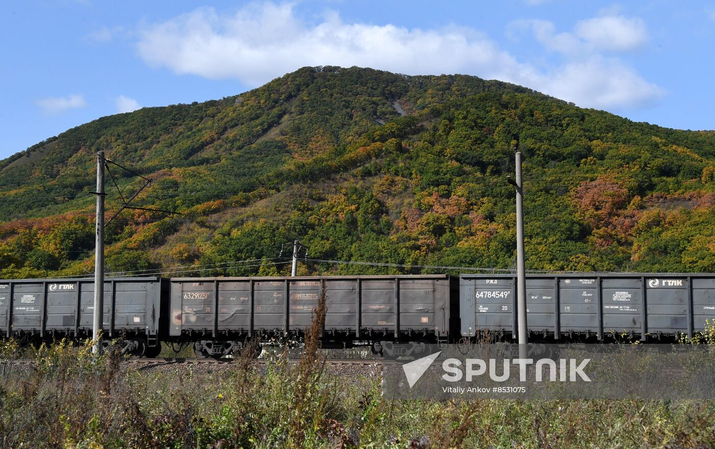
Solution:
{"label": "whole freight train of gray gondola cars below the hill", "polygon": [[[300,341],[322,292],[324,347],[516,337],[514,275],[108,278],[103,327],[137,357],[156,357],[162,342],[222,357],[250,340]],[[0,332],[88,338],[93,298],[87,278],[0,280]],[[527,275],[526,302],[530,341],[693,336],[715,322],[715,275]]]}

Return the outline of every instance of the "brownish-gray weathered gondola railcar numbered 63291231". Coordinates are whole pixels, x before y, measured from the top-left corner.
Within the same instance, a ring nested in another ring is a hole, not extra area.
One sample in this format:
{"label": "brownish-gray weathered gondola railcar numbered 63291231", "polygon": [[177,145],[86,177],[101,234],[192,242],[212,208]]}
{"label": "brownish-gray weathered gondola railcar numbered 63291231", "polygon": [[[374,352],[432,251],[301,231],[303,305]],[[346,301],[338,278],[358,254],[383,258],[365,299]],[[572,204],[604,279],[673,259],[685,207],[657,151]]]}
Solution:
{"label": "brownish-gray weathered gondola railcar numbered 63291231", "polygon": [[197,354],[216,356],[247,338],[300,336],[322,285],[324,340],[448,340],[458,316],[448,275],[172,278],[169,337],[198,336]]}

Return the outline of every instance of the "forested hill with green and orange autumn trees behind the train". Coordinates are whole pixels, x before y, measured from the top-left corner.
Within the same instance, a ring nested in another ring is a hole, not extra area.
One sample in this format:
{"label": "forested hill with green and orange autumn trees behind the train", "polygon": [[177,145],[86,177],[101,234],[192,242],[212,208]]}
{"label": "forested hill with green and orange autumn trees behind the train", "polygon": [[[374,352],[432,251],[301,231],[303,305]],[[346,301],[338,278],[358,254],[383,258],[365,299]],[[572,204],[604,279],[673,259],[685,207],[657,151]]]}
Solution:
{"label": "forested hill with green and orange autumn trees behind the train", "polygon": [[[102,117],[1,161],[0,277],[93,270],[99,149],[152,179],[135,206],[181,212],[122,212],[107,226],[109,272],[286,274],[293,240],[313,260],[299,274],[511,268],[515,139],[528,269],[715,270],[715,132],[476,77],[324,66]],[[141,185],[111,168],[125,196]],[[109,217],[121,202],[109,174],[107,192]]]}

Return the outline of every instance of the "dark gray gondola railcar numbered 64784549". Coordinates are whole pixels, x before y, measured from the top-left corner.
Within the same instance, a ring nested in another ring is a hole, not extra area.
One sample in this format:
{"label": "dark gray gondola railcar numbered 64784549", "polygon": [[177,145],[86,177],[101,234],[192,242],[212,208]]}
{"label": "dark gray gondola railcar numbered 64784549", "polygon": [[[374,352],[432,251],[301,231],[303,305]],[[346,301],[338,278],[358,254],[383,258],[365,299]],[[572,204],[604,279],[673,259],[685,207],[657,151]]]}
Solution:
{"label": "dark gray gondola railcar numbered 64784549", "polygon": [[[527,275],[532,337],[689,335],[715,320],[715,275],[618,273]],[[461,275],[461,335],[516,335],[516,277]]]}

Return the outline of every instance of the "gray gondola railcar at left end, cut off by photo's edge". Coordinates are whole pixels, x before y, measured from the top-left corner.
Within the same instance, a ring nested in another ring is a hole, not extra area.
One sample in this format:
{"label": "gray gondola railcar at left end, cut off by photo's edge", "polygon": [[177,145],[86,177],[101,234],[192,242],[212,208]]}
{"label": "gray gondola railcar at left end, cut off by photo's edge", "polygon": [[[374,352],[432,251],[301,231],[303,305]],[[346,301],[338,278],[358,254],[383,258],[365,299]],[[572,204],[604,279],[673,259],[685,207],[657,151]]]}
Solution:
{"label": "gray gondola railcar at left end, cut off by photo's edge", "polygon": [[[104,282],[105,335],[125,335],[135,355],[157,352],[162,286],[159,277],[117,277]],[[0,280],[0,328],[6,337],[48,341],[92,335],[94,280],[91,278]],[[164,329],[162,329],[164,327]],[[133,341],[132,340],[136,340]]]}

